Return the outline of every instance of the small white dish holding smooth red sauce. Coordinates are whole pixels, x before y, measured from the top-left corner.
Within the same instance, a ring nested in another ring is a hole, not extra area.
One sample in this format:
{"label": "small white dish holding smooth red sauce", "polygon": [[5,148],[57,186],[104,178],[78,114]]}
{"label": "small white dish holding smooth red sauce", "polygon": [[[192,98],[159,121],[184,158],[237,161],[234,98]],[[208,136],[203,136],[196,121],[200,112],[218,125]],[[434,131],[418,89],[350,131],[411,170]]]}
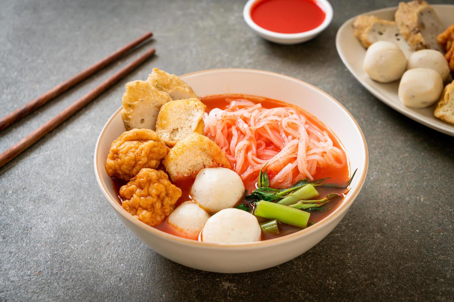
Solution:
{"label": "small white dish holding smooth red sauce", "polygon": [[296,33],[296,34],[282,34],[276,33],[268,29],[257,25],[251,18],[251,8],[254,3],[260,0],[249,0],[243,9],[243,18],[246,21],[247,25],[252,28],[259,36],[262,38],[279,44],[298,44],[302,42],[309,41],[312,38],[315,38],[323,30],[325,30],[328,25],[330,25],[331,20],[333,19],[333,8],[327,0],[315,0],[316,4],[325,11],[325,20],[315,29],[311,29],[306,32]]}

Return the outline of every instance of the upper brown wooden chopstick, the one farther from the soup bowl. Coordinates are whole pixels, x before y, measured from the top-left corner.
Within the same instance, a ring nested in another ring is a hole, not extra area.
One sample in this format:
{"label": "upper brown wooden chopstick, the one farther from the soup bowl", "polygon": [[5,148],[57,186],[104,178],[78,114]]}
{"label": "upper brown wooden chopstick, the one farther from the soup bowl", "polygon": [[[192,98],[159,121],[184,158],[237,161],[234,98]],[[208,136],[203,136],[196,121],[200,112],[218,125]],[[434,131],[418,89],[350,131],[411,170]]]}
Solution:
{"label": "upper brown wooden chopstick, the one farther from the soup bowl", "polygon": [[23,105],[19,109],[16,109],[15,111],[11,112],[9,115],[6,115],[3,119],[0,120],[0,131],[5,129],[9,125],[13,124],[16,120],[20,120],[25,115],[28,115],[30,112],[36,110],[37,108],[44,105],[48,101],[52,100],[54,97],[59,96],[64,91],[68,90],[69,88],[76,85],[80,81],[83,81],[87,77],[93,75],[95,72],[98,72],[100,69],[114,62],[115,60],[123,56],[125,53],[127,53],[129,50],[138,46],[140,43],[147,40],[148,38],[151,38],[152,36],[153,36],[152,32],[144,34],[142,37],[135,39],[133,42],[118,49],[116,52],[111,53],[108,57],[88,67],[84,71],[79,72],[74,77],[71,77],[70,79],[64,81],[60,85],[55,86],[54,88],[47,91],[43,95],[38,96],[35,100],[30,101],[29,103]]}

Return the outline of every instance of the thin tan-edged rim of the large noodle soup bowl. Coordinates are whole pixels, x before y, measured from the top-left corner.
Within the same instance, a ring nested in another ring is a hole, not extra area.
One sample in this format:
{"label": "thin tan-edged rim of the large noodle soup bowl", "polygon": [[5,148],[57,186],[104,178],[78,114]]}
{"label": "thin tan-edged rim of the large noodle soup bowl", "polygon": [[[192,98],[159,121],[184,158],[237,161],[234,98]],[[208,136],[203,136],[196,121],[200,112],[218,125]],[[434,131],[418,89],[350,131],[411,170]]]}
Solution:
{"label": "thin tan-edged rim of the large noodle soup bowl", "polygon": [[[94,174],[96,177],[96,182],[98,182],[99,188],[103,192],[104,197],[107,199],[110,206],[112,206],[112,208],[114,208],[114,210],[117,212],[118,215],[122,216],[124,219],[128,220],[132,224],[138,226],[140,229],[147,231],[147,232],[151,232],[151,233],[157,235],[158,237],[162,237],[163,239],[166,239],[166,240],[177,241],[178,243],[185,244],[185,245],[204,246],[204,247],[211,247],[211,248],[215,248],[215,249],[236,249],[236,248],[253,248],[253,247],[257,247],[257,246],[275,245],[275,244],[280,244],[284,241],[296,240],[297,238],[304,237],[305,235],[309,235],[311,233],[317,232],[318,230],[321,230],[330,221],[341,216],[342,214],[344,214],[344,212],[346,212],[349,209],[349,207],[351,206],[353,201],[356,199],[361,188],[364,185],[365,177],[366,177],[368,166],[369,166],[369,152],[368,152],[364,134],[363,134],[360,126],[358,125],[358,122],[350,114],[350,112],[339,101],[337,101],[334,97],[330,96],[328,93],[321,90],[320,88],[313,86],[305,81],[296,79],[294,77],[289,77],[289,76],[286,76],[286,75],[283,75],[280,73],[276,73],[276,72],[269,72],[269,71],[263,71],[263,70],[257,70],[257,69],[247,69],[247,68],[218,68],[218,69],[207,69],[207,70],[202,70],[202,71],[197,71],[197,72],[190,72],[190,73],[183,74],[180,77],[187,77],[187,76],[194,75],[197,73],[231,72],[231,71],[266,73],[266,74],[271,74],[272,76],[285,77],[288,80],[301,82],[303,85],[310,86],[310,87],[316,89],[317,91],[321,92],[322,94],[328,96],[329,98],[331,98],[332,101],[337,103],[337,105],[340,106],[341,110],[344,110],[350,116],[350,118],[353,120],[353,122],[356,125],[356,129],[359,131],[361,138],[362,138],[362,143],[363,143],[362,147],[363,147],[363,152],[365,154],[365,160],[364,160],[363,173],[361,173],[359,175],[360,180],[358,182],[358,186],[350,190],[349,194],[344,198],[344,201],[342,202],[342,204],[339,207],[337,207],[336,210],[334,210],[330,215],[326,216],[321,221],[317,222],[315,225],[312,225],[310,228],[302,229],[295,233],[291,233],[291,234],[288,234],[288,235],[285,235],[282,237],[268,239],[268,240],[262,240],[262,241],[255,241],[255,242],[222,244],[222,243],[202,242],[202,241],[198,241],[198,240],[192,240],[192,239],[188,239],[188,238],[179,237],[177,235],[172,235],[172,234],[166,233],[162,230],[158,230],[150,225],[147,225],[147,224],[143,223],[142,221],[139,221],[137,218],[134,218],[132,215],[130,215],[128,212],[126,212],[126,210],[124,210],[123,207],[121,207],[121,205],[118,203],[118,201],[116,199],[114,200],[114,199],[110,198],[106,187],[104,187],[103,183],[101,182],[100,168],[104,169],[104,166],[97,165],[97,162],[99,159],[99,143],[102,140],[102,138],[104,137],[106,129],[109,127],[109,125],[112,123],[112,121],[114,120],[116,115],[118,115],[119,111],[121,110],[121,107],[120,107],[120,108],[118,108],[118,110],[116,110],[114,112],[114,114],[109,118],[107,123],[104,125],[104,127],[101,130],[101,133],[99,134],[99,137],[96,141],[96,145],[95,145],[95,149],[94,149]],[[333,131],[333,133],[335,133],[335,132]],[[348,157],[348,154],[347,154],[347,157]]]}

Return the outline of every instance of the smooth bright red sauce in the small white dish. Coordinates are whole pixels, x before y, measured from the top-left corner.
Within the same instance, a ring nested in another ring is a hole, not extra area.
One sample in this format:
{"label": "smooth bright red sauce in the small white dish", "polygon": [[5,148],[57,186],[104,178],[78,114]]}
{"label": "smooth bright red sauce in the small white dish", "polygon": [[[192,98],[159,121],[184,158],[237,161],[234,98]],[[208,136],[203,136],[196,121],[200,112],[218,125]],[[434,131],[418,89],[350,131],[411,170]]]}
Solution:
{"label": "smooth bright red sauce in the small white dish", "polygon": [[314,0],[258,0],[251,18],[260,27],[282,34],[315,29],[325,20],[325,12]]}

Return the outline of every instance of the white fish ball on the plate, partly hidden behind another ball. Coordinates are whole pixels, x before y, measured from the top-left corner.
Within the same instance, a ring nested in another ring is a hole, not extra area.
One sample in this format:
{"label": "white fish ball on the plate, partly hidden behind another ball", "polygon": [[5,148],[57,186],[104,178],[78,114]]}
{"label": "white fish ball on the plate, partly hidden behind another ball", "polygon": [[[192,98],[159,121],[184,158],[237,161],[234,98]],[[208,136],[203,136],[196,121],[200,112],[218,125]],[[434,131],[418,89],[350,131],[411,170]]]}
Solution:
{"label": "white fish ball on the plate, partly hidden behind another ball", "polygon": [[430,68],[440,74],[443,81],[449,77],[448,61],[444,55],[435,49],[421,49],[408,58],[407,69]]}

